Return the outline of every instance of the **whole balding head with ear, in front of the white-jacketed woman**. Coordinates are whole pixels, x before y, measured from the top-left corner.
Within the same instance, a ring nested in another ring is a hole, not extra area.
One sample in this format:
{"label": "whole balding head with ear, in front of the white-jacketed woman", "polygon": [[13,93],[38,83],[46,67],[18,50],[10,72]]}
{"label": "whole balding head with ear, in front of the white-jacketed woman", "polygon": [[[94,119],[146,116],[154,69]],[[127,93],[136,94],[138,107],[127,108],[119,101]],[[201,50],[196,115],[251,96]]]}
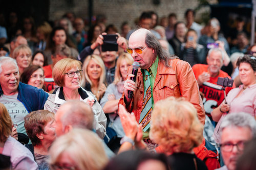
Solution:
{"label": "whole balding head with ear, in front of the white-jacketed woman", "polygon": [[94,113],[88,104],[70,100],[61,105],[56,112],[56,134],[61,136],[71,128],[93,129]]}

